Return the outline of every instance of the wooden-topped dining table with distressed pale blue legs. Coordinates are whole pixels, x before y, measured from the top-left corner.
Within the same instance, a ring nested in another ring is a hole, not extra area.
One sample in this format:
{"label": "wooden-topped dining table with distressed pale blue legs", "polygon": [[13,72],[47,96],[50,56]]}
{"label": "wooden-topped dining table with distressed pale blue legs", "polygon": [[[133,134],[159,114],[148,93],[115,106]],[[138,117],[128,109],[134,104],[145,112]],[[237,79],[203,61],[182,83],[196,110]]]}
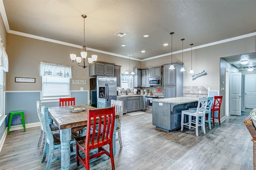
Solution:
{"label": "wooden-topped dining table with distressed pale blue legs", "polygon": [[[72,112],[72,108],[84,108],[84,111]],[[82,130],[87,125],[87,110],[95,110],[97,108],[88,105],[74,105],[64,107],[49,107],[48,113],[52,120],[60,129],[60,144],[61,144],[61,169],[70,169],[70,140],[71,133]],[[113,133],[113,152],[116,153],[116,115],[114,133]]]}

